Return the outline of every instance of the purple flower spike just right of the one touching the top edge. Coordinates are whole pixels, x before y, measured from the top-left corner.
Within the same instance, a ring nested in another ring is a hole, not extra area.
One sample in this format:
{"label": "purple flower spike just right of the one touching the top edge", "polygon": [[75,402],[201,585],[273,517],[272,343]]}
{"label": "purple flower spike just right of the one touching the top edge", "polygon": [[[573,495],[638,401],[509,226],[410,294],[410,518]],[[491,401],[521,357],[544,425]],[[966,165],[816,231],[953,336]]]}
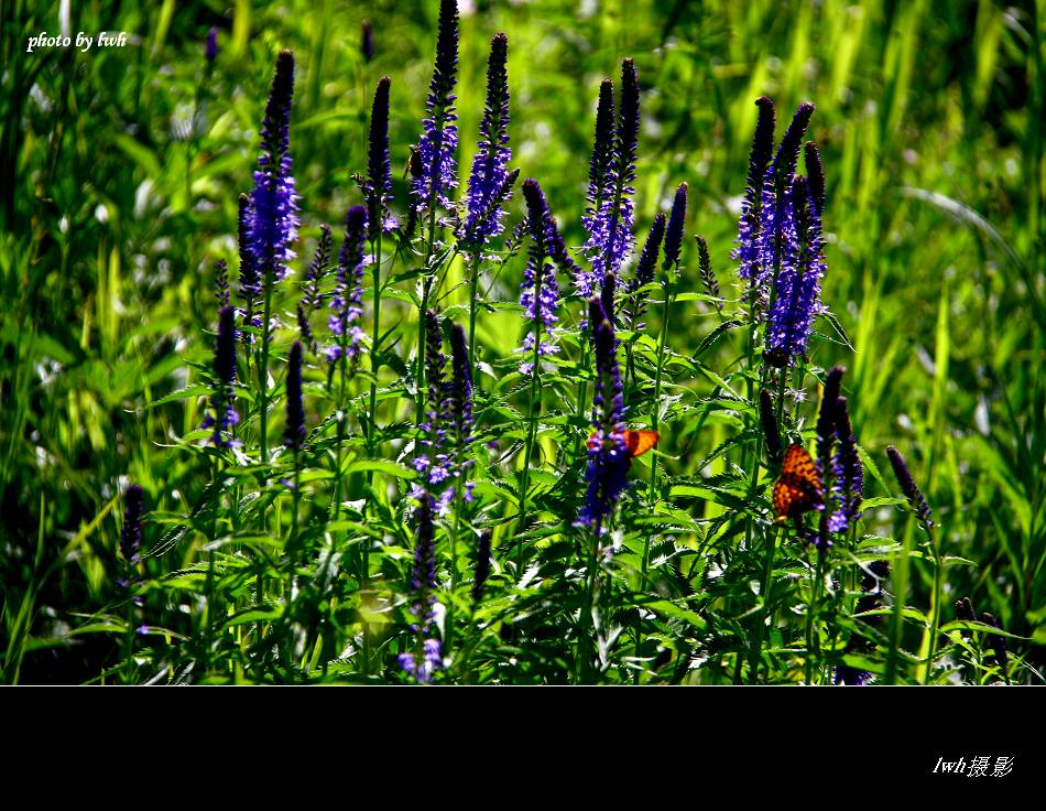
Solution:
{"label": "purple flower spike just right of the one touching the top edge", "polygon": [[479,127],[479,149],[472,159],[466,201],[468,214],[461,229],[461,241],[472,248],[504,230],[502,204],[510,188],[506,166],[512,156],[509,148],[508,58],[509,37],[495,34],[490,41],[487,106]]}

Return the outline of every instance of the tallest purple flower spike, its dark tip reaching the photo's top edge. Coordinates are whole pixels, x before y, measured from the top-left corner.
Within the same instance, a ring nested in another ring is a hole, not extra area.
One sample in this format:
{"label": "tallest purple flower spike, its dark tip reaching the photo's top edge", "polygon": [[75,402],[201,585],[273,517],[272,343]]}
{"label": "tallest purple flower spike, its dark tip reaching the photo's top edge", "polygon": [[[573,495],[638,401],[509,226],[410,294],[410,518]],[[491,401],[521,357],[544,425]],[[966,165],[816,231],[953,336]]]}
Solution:
{"label": "tallest purple flower spike, its dark tip reaching the photo's top edge", "polygon": [[455,152],[458,148],[458,117],[454,110],[457,98],[454,87],[458,75],[458,4],[440,0],[439,35],[436,41],[436,65],[425,101],[427,117],[418,153],[421,166],[414,179],[415,210],[422,212],[437,203],[450,208],[450,194],[458,185]]}

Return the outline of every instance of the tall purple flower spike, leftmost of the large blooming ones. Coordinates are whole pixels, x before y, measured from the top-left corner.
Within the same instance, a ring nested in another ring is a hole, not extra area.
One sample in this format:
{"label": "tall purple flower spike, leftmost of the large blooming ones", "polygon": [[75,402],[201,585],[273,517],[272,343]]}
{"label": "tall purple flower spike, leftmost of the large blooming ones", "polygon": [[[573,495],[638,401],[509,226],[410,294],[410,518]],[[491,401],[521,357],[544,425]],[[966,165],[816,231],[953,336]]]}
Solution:
{"label": "tall purple flower spike, leftmost of the large blooming ones", "polygon": [[276,75],[272,80],[265,120],[262,126],[262,151],[254,171],[251,194],[251,218],[248,244],[263,279],[283,279],[294,259],[292,246],[297,241],[297,193],[291,174],[291,98],[294,95],[294,54],[281,51],[276,57]]}

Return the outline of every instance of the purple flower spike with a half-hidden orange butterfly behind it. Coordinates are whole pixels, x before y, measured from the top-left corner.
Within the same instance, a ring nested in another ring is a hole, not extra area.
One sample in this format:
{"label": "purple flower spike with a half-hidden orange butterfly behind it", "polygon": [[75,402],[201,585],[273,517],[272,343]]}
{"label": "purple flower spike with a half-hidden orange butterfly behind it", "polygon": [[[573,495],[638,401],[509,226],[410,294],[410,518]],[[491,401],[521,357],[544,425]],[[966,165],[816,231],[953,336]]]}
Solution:
{"label": "purple flower spike with a half-hidden orange butterfly behind it", "polygon": [[[608,273],[612,278],[612,274]],[[599,299],[588,303],[589,324],[596,355],[596,386],[592,394],[593,432],[588,441],[588,488],[575,526],[604,529],[606,518],[625,488],[631,457],[625,439],[624,394],[618,367],[613,324]]]}

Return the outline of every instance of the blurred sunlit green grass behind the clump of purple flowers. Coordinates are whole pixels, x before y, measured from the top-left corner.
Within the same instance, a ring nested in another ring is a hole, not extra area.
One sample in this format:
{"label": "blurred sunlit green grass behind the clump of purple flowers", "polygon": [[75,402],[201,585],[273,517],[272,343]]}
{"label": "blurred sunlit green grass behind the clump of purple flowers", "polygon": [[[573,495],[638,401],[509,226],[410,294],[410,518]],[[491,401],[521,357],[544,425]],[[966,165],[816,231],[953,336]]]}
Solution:
{"label": "blurred sunlit green grass behind the clump of purple flowers", "polygon": [[[969,594],[1046,642],[1046,2],[460,7],[459,165],[475,149],[490,37],[504,31],[512,164],[541,181],[567,242],[580,245],[598,85],[633,56],[636,230],[687,181],[688,231],[708,238],[727,291],[753,101],[776,101],[778,131],[800,101],[816,102],[824,295],[857,348],[822,350],[818,363],[849,367],[858,439],[884,471],[886,444],[905,453],[944,552],[978,564],[948,570],[945,617]],[[351,175],[366,166],[384,74],[393,208],[405,212],[437,11],[431,0],[2,4],[0,647],[28,613],[21,680],[88,679],[112,655],[103,635],[68,631],[112,597],[126,477],[156,508],[187,495],[178,488],[192,471],[163,444],[199,415],[192,403],[149,407],[209,348],[210,268],[235,257],[237,195],[250,184],[276,52],[296,57],[291,150],[307,257],[318,224],[359,202]],[[219,53],[208,68],[210,26]],[[129,42],[26,53],[30,36],[63,31],[126,31]],[[504,298],[519,272],[502,280]],[[677,323],[677,350],[708,328]],[[909,602],[925,605],[931,572],[917,574]],[[1042,650],[1026,651],[1036,667]]]}

